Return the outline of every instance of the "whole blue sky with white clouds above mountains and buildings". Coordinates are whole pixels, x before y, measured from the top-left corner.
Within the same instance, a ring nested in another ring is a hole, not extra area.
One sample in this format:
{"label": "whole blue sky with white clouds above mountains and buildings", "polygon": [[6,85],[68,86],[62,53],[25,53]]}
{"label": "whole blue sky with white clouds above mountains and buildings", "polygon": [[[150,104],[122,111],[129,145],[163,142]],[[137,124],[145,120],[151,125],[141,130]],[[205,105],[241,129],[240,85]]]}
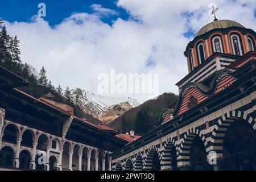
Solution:
{"label": "whole blue sky with white clouds above mountains and buildings", "polygon": [[[38,4],[46,4],[39,18]],[[43,66],[54,85],[97,93],[100,73],[159,73],[159,94],[178,93],[183,52],[216,3],[220,19],[256,30],[255,0],[1,0],[0,18],[18,35],[23,62]],[[208,20],[211,22],[213,18]],[[147,94],[131,96],[139,102]]]}

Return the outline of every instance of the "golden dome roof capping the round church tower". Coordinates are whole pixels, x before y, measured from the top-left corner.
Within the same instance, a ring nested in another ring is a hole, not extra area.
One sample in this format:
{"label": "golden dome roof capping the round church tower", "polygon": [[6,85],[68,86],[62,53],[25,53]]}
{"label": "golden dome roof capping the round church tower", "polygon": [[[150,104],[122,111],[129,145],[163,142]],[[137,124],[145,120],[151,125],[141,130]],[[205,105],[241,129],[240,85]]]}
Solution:
{"label": "golden dome roof capping the round church tower", "polygon": [[205,34],[206,32],[209,32],[210,30],[213,30],[215,28],[229,28],[229,27],[241,27],[242,24],[237,23],[232,20],[215,20],[214,22],[210,22],[207,25],[205,25],[203,28],[201,28],[197,33],[196,36],[200,36]]}

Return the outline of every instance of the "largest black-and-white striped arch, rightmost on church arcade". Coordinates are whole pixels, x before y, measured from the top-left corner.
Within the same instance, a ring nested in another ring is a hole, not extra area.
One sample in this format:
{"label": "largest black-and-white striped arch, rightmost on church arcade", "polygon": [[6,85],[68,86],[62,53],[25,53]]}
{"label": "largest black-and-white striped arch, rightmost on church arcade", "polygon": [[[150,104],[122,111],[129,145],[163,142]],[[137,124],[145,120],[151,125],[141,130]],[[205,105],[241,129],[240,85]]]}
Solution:
{"label": "largest black-and-white striped arch, rightmost on church arcade", "polygon": [[223,156],[222,148],[226,131],[228,130],[229,126],[237,119],[248,122],[253,130],[256,130],[255,119],[250,117],[250,115],[245,112],[239,110],[232,110],[222,115],[222,117],[218,119],[216,127],[213,129],[212,146],[209,147],[209,151],[216,152],[216,158],[220,158]]}

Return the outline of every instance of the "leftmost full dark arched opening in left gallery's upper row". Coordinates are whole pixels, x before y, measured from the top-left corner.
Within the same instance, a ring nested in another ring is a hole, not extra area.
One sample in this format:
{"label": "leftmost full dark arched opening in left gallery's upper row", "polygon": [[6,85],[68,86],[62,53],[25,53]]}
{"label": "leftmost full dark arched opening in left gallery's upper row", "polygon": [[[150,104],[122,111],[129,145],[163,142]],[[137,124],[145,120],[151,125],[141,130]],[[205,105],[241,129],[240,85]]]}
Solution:
{"label": "leftmost full dark arched opening in left gallery's upper row", "polygon": [[14,125],[7,125],[3,131],[3,142],[16,144],[16,139],[19,137],[19,131]]}

